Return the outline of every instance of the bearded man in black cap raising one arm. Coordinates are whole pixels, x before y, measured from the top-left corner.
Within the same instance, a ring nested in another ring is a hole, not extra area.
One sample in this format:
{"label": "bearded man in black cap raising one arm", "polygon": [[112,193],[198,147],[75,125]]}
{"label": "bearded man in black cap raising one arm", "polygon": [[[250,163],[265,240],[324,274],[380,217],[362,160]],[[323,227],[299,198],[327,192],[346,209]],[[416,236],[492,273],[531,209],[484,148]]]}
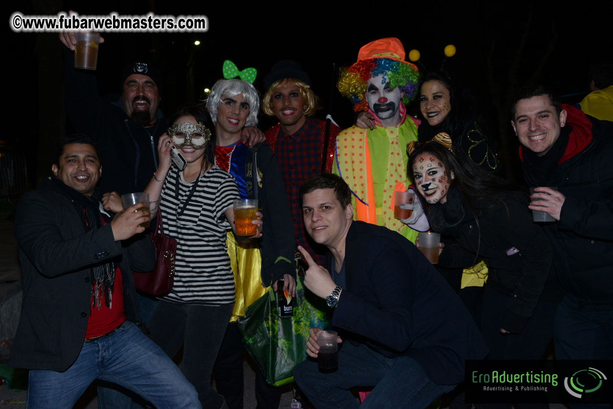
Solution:
{"label": "bearded man in black cap raising one arm", "polygon": [[[75,49],[72,32],[60,32],[59,39]],[[64,82],[72,125],[95,140],[105,161],[101,192],[142,192],[158,167],[158,139],[168,129],[159,110],[161,72],[142,61],[128,64],[121,75],[121,98],[109,102],[99,96],[96,76],[75,69],[74,53],[64,50]]]}

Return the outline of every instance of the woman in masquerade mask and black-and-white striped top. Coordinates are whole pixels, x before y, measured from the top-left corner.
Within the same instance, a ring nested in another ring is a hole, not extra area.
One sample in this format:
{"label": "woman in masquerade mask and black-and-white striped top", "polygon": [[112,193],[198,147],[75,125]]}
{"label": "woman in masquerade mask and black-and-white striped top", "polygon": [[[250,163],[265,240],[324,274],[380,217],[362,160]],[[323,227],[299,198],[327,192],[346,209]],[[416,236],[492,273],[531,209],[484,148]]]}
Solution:
{"label": "woman in masquerade mask and black-and-white striped top", "polygon": [[[183,346],[181,369],[202,407],[221,408],[224,399],[211,388],[210,377],[234,305],[226,232],[235,229],[232,202],[240,196],[230,174],[215,165],[215,130],[208,113],[188,107],[171,123],[160,137],[159,167],[146,191],[151,213],[159,201],[164,231],[177,239],[175,279],[148,326],[151,339],[168,356]],[[173,146],[187,162],[182,171],[171,164]],[[250,239],[261,237],[261,220],[257,231]]]}

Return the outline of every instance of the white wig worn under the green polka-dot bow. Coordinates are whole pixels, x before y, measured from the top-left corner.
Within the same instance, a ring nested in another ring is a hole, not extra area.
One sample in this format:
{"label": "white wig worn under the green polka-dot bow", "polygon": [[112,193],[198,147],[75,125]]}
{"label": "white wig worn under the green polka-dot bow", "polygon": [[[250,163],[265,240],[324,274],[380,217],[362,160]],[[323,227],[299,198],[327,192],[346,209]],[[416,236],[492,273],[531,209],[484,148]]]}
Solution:
{"label": "white wig worn under the green polka-dot bow", "polygon": [[221,104],[221,96],[233,98],[238,94],[243,94],[245,102],[249,104],[249,116],[245,126],[257,125],[257,112],[260,109],[259,93],[251,83],[237,79],[219,80],[213,85],[213,89],[207,98],[207,109],[213,124],[217,123],[217,108]]}

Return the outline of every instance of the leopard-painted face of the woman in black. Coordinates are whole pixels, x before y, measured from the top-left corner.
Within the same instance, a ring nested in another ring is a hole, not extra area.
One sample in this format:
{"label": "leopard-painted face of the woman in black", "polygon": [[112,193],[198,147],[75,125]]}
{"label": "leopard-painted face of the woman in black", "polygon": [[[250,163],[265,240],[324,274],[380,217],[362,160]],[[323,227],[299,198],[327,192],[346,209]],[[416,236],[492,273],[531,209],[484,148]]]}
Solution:
{"label": "leopard-painted face of the woman in black", "polygon": [[[451,172],[454,177],[454,172]],[[428,204],[447,201],[449,191],[449,175],[441,159],[430,153],[422,153],[413,161],[413,180],[417,191]]]}

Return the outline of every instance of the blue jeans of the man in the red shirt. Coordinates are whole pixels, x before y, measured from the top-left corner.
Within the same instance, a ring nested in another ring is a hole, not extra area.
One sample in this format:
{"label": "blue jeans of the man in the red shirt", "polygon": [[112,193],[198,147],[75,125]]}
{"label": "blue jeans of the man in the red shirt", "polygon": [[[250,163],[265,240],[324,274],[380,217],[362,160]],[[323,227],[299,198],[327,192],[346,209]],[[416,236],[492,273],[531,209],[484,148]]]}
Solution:
{"label": "blue jeans of the man in the red shirt", "polygon": [[96,379],[130,389],[158,408],[200,408],[196,390],[177,365],[129,321],[84,342],[64,372],[31,370],[26,407],[72,408]]}

